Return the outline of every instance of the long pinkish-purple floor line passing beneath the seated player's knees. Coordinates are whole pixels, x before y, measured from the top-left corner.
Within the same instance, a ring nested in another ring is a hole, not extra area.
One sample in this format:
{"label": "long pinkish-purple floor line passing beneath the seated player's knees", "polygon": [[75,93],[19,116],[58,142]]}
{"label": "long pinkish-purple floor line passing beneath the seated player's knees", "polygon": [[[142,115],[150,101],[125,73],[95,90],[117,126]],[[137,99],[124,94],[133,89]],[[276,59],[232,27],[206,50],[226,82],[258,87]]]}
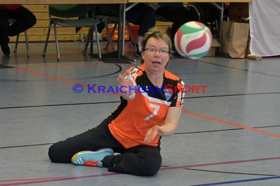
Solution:
{"label": "long pinkish-purple floor line passing beneath the seated player's knees", "polygon": [[[259,162],[259,161],[278,160],[278,159],[280,159],[280,157],[260,158],[260,159],[251,159],[251,160],[238,160],[238,161],[231,161],[231,162],[204,163],[204,164],[164,167],[164,168],[161,168],[160,170],[172,170],[172,169],[182,169],[182,168],[189,168],[189,167],[211,166],[211,165],[231,164],[231,163]],[[38,184],[38,183],[77,180],[77,179],[86,179],[86,178],[97,178],[97,177],[103,177],[103,176],[115,176],[115,175],[119,175],[119,174],[121,174],[121,173],[105,173],[105,174],[76,176],[76,177],[61,177],[61,178],[57,177],[57,178],[54,178],[54,179],[50,178],[48,180],[37,180],[37,181],[30,181],[30,182],[0,184],[0,186],[16,186],[16,185]]]}

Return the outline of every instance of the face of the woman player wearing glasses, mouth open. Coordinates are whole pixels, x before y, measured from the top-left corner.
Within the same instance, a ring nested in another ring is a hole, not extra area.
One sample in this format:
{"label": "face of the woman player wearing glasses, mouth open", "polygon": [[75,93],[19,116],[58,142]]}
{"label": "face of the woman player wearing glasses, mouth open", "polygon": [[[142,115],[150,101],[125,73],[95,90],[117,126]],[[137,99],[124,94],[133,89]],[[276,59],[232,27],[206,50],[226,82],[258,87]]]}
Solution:
{"label": "face of the woman player wearing glasses, mouth open", "polygon": [[163,72],[170,57],[168,48],[163,39],[149,38],[145,50],[142,50],[145,70],[152,73]]}

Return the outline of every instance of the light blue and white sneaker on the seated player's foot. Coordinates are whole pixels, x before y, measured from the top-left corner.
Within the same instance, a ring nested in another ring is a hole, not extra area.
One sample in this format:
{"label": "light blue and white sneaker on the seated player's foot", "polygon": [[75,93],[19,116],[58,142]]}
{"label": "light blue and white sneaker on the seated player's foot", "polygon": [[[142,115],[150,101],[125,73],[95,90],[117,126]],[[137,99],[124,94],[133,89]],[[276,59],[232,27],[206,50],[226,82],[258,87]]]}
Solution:
{"label": "light blue and white sneaker on the seated player's foot", "polygon": [[76,153],[71,162],[74,164],[103,167],[102,160],[105,156],[113,155],[111,148],[100,149],[98,151],[81,151]]}

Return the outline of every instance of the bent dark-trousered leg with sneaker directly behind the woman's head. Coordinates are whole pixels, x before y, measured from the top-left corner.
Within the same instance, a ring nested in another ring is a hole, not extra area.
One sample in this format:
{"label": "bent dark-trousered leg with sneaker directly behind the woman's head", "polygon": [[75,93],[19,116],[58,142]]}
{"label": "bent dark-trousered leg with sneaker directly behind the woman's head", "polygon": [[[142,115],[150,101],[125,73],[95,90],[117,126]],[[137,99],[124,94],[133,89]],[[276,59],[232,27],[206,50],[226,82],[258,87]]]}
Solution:
{"label": "bent dark-trousered leg with sneaker directly behind the woman's head", "polygon": [[136,6],[126,12],[126,20],[130,23],[140,25],[138,36],[132,42],[135,55],[140,57],[142,51],[142,39],[145,33],[156,24],[155,10],[145,3],[138,3]]}

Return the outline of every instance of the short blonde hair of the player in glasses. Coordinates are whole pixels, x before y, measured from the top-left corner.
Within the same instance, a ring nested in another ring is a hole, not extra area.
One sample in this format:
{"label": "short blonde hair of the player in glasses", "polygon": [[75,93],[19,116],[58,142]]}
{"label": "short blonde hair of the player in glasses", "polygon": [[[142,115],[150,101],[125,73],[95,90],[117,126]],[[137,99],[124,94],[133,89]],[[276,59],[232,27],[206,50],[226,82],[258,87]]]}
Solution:
{"label": "short blonde hair of the player in glasses", "polygon": [[[144,38],[142,40],[142,51],[145,50],[146,48],[146,45],[147,45],[147,42],[148,40],[151,38],[151,37],[154,37],[156,39],[162,39],[164,40],[167,44],[168,44],[168,53],[170,55],[170,57],[172,57],[173,55],[173,51],[172,51],[172,42],[171,42],[171,39],[169,38],[169,36],[167,35],[166,32],[162,31],[159,27],[157,26],[154,26],[152,28],[150,28],[146,34],[144,35]],[[143,59],[141,58],[141,63],[144,63]]]}

